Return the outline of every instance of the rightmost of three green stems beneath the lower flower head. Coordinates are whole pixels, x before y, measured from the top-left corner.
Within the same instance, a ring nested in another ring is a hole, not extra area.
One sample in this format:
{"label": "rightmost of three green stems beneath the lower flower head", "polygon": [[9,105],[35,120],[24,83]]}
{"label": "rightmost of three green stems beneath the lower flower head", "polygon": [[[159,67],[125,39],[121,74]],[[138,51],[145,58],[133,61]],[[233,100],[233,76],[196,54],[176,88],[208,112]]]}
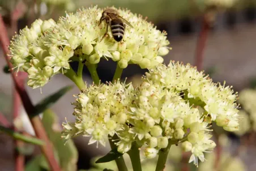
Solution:
{"label": "rightmost of three green stems beneath the lower flower head", "polygon": [[169,140],[167,148],[159,150],[159,152],[158,152],[159,157],[158,157],[157,164],[156,164],[156,171],[164,170],[165,163],[167,161],[167,156],[168,156],[168,153],[170,150],[170,146],[172,146],[171,140]]}

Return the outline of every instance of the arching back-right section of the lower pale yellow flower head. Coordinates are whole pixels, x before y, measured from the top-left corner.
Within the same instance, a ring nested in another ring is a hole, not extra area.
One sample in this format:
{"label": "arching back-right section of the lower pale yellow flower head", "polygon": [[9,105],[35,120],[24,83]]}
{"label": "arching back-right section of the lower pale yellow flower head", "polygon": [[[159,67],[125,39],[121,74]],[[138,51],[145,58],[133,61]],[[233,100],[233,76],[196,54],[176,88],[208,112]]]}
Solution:
{"label": "arching back-right section of the lower pale yellow flower head", "polygon": [[184,99],[190,105],[204,109],[203,116],[208,122],[215,121],[227,131],[238,130],[237,92],[234,93],[232,87],[225,87],[225,82],[223,86],[213,83],[208,75],[198,72],[196,67],[178,62],[150,70],[145,80],[184,93]]}

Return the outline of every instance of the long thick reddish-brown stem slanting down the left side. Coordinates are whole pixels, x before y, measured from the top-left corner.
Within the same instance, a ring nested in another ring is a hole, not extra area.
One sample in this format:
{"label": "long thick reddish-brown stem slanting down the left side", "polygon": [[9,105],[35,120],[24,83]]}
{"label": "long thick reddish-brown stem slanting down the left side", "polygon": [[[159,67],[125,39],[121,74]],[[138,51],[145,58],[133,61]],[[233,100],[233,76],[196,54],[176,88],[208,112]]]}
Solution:
{"label": "long thick reddish-brown stem slanting down the left side", "polygon": [[[6,62],[10,67],[10,69],[12,69],[12,65],[7,56],[8,45],[10,44],[10,40],[7,37],[6,27],[5,27],[5,24],[3,23],[3,19],[1,15],[0,15],[0,43],[3,49],[3,52],[5,53]],[[29,98],[27,91],[25,91],[24,84],[18,81],[18,78],[16,77],[13,71],[11,71],[11,76],[12,76],[12,80],[14,80],[16,91],[19,93],[19,96],[20,96],[20,99],[22,100],[25,111],[29,116],[29,114],[34,113],[35,107],[32,105],[32,101]],[[29,119],[32,123],[33,129],[35,130],[37,138],[45,142],[45,145],[41,146],[41,151],[42,153],[44,153],[45,158],[47,159],[51,170],[54,170],[54,171],[61,170],[56,159],[54,158],[53,147],[49,141],[48,136],[46,135],[41,119],[39,118],[39,116],[36,116],[33,118],[29,117]]]}

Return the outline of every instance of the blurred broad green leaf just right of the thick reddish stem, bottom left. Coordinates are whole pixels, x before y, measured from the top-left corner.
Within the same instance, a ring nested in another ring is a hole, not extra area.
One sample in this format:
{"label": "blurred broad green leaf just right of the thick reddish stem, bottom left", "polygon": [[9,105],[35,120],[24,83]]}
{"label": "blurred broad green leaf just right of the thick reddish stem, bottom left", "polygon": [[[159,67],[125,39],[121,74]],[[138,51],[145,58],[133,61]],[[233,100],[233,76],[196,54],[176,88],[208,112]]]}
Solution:
{"label": "blurred broad green leaf just right of the thick reddish stem, bottom left", "polygon": [[56,114],[50,109],[45,110],[42,117],[42,124],[45,127],[50,141],[53,143],[62,170],[75,171],[78,161],[78,151],[72,140],[69,140],[64,145],[61,139],[61,127],[59,126]]}

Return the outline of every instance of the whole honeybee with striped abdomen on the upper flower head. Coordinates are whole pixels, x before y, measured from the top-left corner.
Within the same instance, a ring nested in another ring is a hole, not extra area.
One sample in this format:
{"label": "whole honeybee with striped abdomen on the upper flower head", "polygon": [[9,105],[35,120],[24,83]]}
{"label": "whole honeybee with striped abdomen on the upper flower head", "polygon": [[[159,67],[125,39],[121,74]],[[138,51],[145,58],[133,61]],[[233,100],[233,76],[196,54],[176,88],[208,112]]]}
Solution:
{"label": "whole honeybee with striped abdomen on the upper flower head", "polygon": [[133,25],[127,22],[127,20],[123,19],[118,14],[118,11],[114,10],[113,8],[106,8],[106,10],[103,11],[99,25],[101,22],[103,22],[103,20],[106,20],[106,32],[101,40],[103,40],[108,34],[108,27],[110,27],[112,36],[117,42],[120,42],[123,39],[123,34],[125,33],[125,24],[133,28]]}

